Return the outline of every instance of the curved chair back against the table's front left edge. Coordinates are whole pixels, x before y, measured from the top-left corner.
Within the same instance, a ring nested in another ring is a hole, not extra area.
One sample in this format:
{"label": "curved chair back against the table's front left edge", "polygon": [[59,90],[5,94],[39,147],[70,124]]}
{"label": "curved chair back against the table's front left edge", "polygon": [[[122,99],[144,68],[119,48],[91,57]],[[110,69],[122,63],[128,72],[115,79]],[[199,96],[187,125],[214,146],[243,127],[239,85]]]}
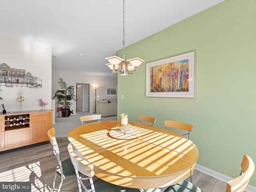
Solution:
{"label": "curved chair back against the table's front left edge", "polygon": [[74,165],[74,168],[76,168],[80,173],[84,174],[88,177],[94,176],[94,165],[89,163],[88,161],[80,158],[74,153],[72,144],[68,144],[68,152],[70,159],[72,161],[72,164]]}

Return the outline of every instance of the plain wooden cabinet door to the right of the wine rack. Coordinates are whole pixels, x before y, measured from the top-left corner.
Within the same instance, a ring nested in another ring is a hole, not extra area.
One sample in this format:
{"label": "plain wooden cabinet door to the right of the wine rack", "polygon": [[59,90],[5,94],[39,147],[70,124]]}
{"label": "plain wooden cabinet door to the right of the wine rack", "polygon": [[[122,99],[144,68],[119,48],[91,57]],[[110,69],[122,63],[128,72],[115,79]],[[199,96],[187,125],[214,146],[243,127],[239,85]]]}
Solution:
{"label": "plain wooden cabinet door to the right of the wine rack", "polygon": [[30,115],[30,142],[48,141],[47,131],[52,127],[51,112]]}

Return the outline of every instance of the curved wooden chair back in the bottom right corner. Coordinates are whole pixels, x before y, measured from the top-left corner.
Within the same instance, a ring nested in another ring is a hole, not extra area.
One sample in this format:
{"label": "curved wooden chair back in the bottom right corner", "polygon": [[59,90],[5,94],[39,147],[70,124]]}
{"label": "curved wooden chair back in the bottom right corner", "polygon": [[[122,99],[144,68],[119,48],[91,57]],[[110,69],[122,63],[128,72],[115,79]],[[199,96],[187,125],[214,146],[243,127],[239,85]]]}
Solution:
{"label": "curved wooden chair back in the bottom right corner", "polygon": [[254,173],[254,162],[249,156],[244,155],[241,167],[242,172],[240,176],[227,182],[226,192],[243,192],[246,189],[246,186]]}

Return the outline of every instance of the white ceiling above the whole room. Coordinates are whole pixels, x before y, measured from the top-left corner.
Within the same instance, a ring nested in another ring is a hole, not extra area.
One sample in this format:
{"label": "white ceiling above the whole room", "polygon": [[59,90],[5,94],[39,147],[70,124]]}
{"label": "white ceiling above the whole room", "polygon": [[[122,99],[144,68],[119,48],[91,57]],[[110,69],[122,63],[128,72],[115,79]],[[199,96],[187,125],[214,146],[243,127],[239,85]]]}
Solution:
{"label": "white ceiling above the whole room", "polygon": [[[125,0],[125,46],[222,1]],[[52,68],[116,76],[105,58],[123,48],[123,2],[0,0],[0,35],[52,46]]]}

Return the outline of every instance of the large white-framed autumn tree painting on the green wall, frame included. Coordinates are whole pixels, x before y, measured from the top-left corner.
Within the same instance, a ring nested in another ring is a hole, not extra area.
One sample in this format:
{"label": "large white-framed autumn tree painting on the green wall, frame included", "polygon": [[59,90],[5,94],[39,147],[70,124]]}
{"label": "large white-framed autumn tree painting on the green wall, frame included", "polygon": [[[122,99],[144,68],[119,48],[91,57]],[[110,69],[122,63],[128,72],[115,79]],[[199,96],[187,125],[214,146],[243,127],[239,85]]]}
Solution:
{"label": "large white-framed autumn tree painting on the green wall, frame included", "polygon": [[147,63],[146,96],[195,98],[195,52]]}

